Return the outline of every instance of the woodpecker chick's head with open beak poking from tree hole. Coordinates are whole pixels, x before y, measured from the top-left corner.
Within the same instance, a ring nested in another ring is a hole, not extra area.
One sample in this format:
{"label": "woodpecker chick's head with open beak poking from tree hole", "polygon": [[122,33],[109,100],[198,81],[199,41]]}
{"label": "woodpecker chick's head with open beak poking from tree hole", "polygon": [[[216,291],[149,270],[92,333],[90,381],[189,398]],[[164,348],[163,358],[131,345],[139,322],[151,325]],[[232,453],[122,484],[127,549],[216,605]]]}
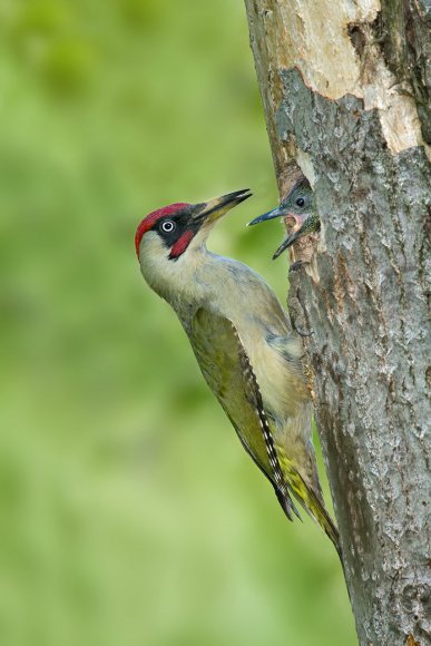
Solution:
{"label": "woodpecker chick's head with open beak poking from tree hole", "polygon": [[292,218],[294,221],[293,229],[273,255],[274,261],[300,237],[320,231],[321,221],[314,193],[306,178],[302,178],[294,184],[286,197],[280,203],[280,206],[273,211],[268,211],[268,213],[259,215],[249,225],[274,219],[274,217],[285,217],[286,219]]}

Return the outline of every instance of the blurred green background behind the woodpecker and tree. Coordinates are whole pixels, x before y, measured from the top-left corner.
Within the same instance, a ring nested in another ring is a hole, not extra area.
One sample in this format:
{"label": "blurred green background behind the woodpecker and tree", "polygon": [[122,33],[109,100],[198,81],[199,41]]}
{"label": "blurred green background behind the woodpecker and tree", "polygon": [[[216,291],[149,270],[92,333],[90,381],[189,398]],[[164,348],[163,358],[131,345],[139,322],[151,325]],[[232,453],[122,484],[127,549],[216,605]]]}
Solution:
{"label": "blurred green background behind the woodpecker and tree", "polygon": [[147,212],[249,186],[210,247],[285,296],[243,1],[2,0],[0,35],[0,644],[355,644],[135,257]]}

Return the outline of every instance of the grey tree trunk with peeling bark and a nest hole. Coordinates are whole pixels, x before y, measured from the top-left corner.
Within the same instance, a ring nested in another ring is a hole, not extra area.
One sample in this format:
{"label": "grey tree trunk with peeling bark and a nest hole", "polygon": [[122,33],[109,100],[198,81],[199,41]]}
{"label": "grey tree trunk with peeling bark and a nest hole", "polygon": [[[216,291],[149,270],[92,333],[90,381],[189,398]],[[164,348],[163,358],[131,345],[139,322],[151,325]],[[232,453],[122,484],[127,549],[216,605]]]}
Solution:
{"label": "grey tree trunk with peeling bark and a nest hole", "polygon": [[345,579],[374,646],[431,644],[424,2],[246,0],[280,194],[303,173],[322,221],[295,245],[311,263],[291,273],[288,307],[314,332]]}

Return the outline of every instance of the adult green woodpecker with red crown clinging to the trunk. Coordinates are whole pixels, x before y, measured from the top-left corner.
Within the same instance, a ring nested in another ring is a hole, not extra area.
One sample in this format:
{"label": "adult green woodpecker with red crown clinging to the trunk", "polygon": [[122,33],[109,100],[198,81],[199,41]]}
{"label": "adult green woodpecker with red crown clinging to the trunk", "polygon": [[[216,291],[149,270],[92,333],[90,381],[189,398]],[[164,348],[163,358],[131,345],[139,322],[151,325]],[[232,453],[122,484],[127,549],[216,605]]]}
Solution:
{"label": "adult green woodpecker with red crown clinging to the trunk", "polygon": [[213,225],[249,196],[237,190],[147,215],[135,236],[140,271],[175,310],[207,384],[286,516],[298,516],[293,493],[340,552],[311,440],[301,340],[258,274],[206,248]]}

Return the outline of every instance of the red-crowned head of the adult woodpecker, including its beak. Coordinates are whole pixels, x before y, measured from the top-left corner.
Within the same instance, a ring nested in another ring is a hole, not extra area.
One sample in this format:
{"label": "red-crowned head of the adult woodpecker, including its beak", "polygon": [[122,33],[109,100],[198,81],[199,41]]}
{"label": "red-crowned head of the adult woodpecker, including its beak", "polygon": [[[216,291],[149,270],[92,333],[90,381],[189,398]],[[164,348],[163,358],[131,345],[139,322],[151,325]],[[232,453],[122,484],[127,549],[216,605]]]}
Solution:
{"label": "red-crowned head of the adult woodpecker, including its beak", "polygon": [[214,224],[251,195],[248,189],[236,190],[209,202],[170,204],[149,213],[136,231],[135,248],[150,286],[156,288],[163,276],[178,274],[193,251],[205,246]]}

